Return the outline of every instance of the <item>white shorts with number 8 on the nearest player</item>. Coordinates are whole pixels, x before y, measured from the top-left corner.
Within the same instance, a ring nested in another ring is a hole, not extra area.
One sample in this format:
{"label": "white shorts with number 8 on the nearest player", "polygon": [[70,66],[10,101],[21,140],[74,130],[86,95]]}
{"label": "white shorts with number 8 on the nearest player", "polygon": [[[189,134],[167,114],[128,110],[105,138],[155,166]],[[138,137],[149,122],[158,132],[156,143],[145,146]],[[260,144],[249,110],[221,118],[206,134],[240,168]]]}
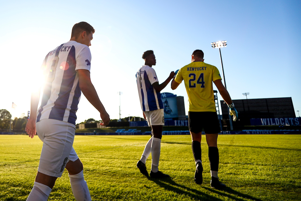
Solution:
{"label": "white shorts with number 8 on the nearest player", "polygon": [[66,163],[78,159],[72,147],[75,125],[55,119],[43,119],[36,123],[36,130],[43,142],[38,171],[51,177],[61,177]]}

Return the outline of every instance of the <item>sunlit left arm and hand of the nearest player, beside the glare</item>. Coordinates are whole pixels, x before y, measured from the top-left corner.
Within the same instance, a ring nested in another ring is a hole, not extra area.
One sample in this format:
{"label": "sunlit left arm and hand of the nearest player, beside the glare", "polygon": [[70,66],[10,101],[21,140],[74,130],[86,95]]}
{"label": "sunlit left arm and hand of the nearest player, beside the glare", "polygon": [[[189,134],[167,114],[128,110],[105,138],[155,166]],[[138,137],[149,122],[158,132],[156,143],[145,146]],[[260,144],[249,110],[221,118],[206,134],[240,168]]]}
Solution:
{"label": "sunlit left arm and hand of the nearest player, beside the glare", "polygon": [[37,110],[40,100],[40,91],[41,86],[36,87],[31,93],[30,98],[30,116],[26,123],[25,131],[29,137],[33,138],[36,135],[36,119],[37,119]]}

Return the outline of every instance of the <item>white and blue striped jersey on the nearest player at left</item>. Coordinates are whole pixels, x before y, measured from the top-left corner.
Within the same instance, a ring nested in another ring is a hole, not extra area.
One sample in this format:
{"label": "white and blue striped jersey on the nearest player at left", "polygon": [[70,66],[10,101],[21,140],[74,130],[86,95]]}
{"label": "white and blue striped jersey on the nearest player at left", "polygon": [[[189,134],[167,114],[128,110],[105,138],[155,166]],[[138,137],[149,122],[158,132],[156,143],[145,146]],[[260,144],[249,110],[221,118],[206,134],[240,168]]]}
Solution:
{"label": "white and blue striped jersey on the nearest player at left", "polygon": [[81,90],[76,70],[90,71],[91,52],[88,46],[68,41],[49,52],[42,64],[44,87],[37,122],[56,119],[75,125]]}

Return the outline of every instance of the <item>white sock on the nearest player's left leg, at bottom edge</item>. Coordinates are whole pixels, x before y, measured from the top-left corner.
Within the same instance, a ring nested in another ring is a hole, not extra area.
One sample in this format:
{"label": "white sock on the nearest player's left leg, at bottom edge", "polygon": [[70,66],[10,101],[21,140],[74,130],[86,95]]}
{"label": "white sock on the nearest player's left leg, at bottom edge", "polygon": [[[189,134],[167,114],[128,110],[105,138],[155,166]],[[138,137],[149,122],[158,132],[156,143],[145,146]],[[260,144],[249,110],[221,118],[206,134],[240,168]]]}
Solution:
{"label": "white sock on the nearest player's left leg, at bottom edge", "polygon": [[35,182],[33,185],[33,189],[29,193],[29,196],[26,199],[26,201],[47,201],[51,190],[52,189],[50,187]]}

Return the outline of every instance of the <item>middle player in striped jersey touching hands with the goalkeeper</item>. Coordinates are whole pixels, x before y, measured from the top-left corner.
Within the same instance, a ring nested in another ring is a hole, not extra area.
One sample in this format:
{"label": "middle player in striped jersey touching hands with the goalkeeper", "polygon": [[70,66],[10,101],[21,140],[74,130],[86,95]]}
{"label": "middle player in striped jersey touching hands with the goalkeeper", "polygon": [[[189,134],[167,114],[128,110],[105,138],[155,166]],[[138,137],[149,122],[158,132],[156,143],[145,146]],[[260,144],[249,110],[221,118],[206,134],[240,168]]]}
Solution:
{"label": "middle player in striped jersey touching hands with the goalkeeper", "polygon": [[158,170],[162,129],[164,125],[164,106],[161,100],[160,91],[166,87],[170,80],[172,80],[175,73],[172,71],[169,74],[169,77],[163,83],[159,84],[156,72],[154,68],[152,68],[152,66],[156,65],[154,51],[147,50],[143,53],[142,58],[144,59],[145,64],[138,69],[136,80],[143,116],[146,118],[148,126],[151,127],[153,135],[145,145],[141,159],[137,163],[137,168],[139,168],[142,174],[148,177],[145,163],[151,153],[152,165],[150,177],[169,177],[168,174],[164,174]]}

